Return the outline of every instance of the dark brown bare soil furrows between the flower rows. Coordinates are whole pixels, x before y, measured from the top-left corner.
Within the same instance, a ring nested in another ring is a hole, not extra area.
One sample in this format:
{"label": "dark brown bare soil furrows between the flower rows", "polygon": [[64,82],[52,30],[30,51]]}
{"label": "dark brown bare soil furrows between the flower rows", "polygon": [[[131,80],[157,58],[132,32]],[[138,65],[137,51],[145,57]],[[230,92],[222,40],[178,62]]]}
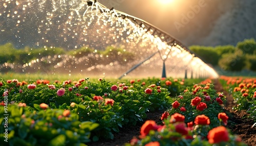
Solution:
{"label": "dark brown bare soil furrows between the flower rows", "polygon": [[[256,145],[256,126],[251,127],[254,123],[252,119],[246,118],[246,111],[234,111],[232,108],[237,105],[233,103],[233,98],[226,90],[223,89],[219,80],[215,80],[215,89],[217,92],[223,92],[226,95],[227,102],[224,108],[225,113],[229,116],[227,128],[232,134],[237,134],[242,141],[244,141],[249,146]],[[156,123],[161,121],[160,117],[164,111],[156,111],[147,113],[147,119],[155,120]],[[147,120],[146,119],[146,120]],[[134,136],[138,137],[140,134],[140,127],[142,123],[136,126],[126,126],[120,128],[119,133],[115,133],[115,138],[113,140],[100,139],[97,142],[88,143],[89,146],[121,146],[124,143],[129,142]]]}

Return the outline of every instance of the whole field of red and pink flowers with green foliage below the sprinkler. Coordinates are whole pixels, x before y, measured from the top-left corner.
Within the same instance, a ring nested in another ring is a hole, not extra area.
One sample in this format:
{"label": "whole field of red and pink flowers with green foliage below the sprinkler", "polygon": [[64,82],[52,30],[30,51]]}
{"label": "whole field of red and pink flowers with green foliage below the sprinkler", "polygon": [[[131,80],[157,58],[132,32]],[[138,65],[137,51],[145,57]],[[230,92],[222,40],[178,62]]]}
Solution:
{"label": "whole field of red and pink flowers with green foliage below the sprinkler", "polygon": [[[230,80],[220,79],[239,105],[234,110],[255,120],[256,80]],[[102,145],[133,127],[139,133],[118,145],[246,145],[229,129],[227,94],[210,79],[1,79],[0,94],[4,145]],[[150,113],[161,114],[152,120]]]}

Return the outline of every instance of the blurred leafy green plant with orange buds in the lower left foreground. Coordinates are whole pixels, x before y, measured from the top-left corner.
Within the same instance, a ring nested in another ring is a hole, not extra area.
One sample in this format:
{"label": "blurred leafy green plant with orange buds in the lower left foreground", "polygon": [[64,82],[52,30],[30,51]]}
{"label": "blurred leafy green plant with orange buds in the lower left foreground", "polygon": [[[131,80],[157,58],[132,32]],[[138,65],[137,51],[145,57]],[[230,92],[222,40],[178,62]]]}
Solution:
{"label": "blurred leafy green plant with orange buds in the lower left foreground", "polygon": [[[79,121],[75,111],[49,109],[34,104],[35,109],[25,103],[8,105],[8,125],[5,125],[4,106],[0,106],[1,128],[8,129],[6,145],[73,145],[90,142],[91,131],[99,124]],[[1,140],[5,134],[1,132]]]}

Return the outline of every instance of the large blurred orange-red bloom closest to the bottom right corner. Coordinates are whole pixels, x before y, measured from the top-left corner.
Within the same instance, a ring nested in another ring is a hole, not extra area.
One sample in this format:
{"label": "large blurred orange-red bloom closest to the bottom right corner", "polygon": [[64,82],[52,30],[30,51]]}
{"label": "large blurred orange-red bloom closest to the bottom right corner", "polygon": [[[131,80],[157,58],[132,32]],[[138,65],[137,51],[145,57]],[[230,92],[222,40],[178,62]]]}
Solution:
{"label": "large blurred orange-red bloom closest to the bottom right corner", "polygon": [[227,142],[229,140],[228,131],[223,126],[216,127],[209,131],[207,138],[211,144],[220,143],[222,141]]}

